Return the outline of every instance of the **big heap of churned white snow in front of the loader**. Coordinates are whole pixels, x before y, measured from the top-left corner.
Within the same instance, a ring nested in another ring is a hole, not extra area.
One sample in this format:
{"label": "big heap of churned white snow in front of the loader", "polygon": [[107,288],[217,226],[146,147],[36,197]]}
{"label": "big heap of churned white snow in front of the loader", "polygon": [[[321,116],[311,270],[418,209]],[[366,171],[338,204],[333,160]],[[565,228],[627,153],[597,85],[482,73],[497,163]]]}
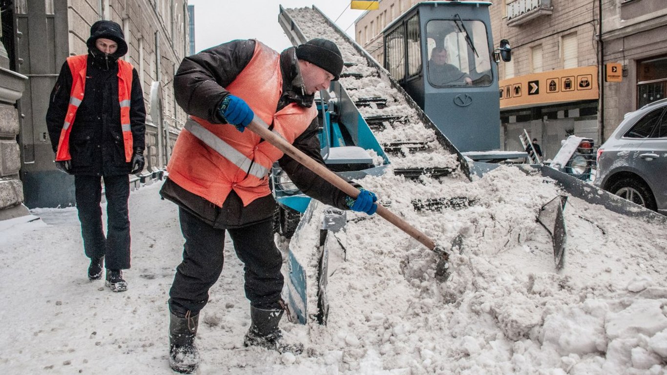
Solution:
{"label": "big heap of churned white snow in front of the loader", "polygon": [[[382,218],[348,213],[336,234],[346,260],[329,270],[329,323],[311,336],[318,350],[348,354],[338,370],[375,374],[364,372],[372,362],[387,374],[664,373],[664,224],[570,197],[566,261],[556,272],[552,240],[536,218],[564,192],[538,173],[501,166],[472,183],[360,182],[445,244],[453,275],[437,282],[434,253]],[[420,212],[406,200],[459,196],[474,203]],[[319,228],[303,230],[315,236]],[[292,248],[314,278],[317,251]],[[350,336],[364,349],[354,350]]]}

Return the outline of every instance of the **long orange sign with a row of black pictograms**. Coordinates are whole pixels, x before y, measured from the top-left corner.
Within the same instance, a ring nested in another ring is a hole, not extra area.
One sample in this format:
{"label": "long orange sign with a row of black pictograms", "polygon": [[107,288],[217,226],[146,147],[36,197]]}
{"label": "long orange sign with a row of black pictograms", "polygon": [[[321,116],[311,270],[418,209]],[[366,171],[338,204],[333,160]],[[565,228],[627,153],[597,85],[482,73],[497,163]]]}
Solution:
{"label": "long orange sign with a row of black pictograms", "polygon": [[598,67],[552,70],[500,81],[500,109],[598,99]]}

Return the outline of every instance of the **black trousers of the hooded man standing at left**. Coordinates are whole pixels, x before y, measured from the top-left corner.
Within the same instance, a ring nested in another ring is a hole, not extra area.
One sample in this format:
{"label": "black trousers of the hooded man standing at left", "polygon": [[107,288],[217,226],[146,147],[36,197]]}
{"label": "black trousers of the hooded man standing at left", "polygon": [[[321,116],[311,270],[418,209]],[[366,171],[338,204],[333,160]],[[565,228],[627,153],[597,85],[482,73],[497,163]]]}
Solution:
{"label": "black trousers of the hooded man standing at left", "polygon": [[74,188],[81,222],[85,255],[91,259],[104,256],[108,270],[130,267],[130,238],[127,200],[129,175],[105,175],[104,195],[107,198],[107,236],[102,227],[101,176],[75,175]]}

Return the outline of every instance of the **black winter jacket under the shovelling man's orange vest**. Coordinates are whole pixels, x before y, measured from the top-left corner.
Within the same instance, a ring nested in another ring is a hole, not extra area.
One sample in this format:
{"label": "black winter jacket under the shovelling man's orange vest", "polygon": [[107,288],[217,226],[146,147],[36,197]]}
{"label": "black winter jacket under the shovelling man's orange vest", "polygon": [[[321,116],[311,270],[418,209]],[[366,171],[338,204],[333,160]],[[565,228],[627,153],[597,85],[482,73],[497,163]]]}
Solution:
{"label": "black winter jacket under the shovelling man's orange vest", "polygon": [[[195,115],[211,123],[223,123],[217,109],[222,99],[229,95],[229,91],[224,87],[241,73],[252,58],[254,51],[255,41],[235,40],[185,57],[174,77],[174,93],[177,103],[189,115]],[[283,75],[283,94],[279,99],[276,111],[288,103],[299,103],[304,107],[314,105],[313,95],[305,94],[294,47],[285,49],[281,53],[280,67]],[[317,127],[317,118],[315,118],[309,127],[295,139],[293,145],[324,165],[319,152]],[[338,187],[331,185],[288,155],[283,155],[278,163],[287,172],[293,183],[299,187],[299,190],[307,196],[330,206],[349,210],[345,203],[346,194]],[[223,203],[222,208],[219,208],[204,198],[187,192],[170,179],[165,181],[160,194],[214,228],[237,228],[266,220],[273,215],[275,210],[275,200],[270,195],[254,200],[247,207],[243,207],[241,199],[233,191]]]}

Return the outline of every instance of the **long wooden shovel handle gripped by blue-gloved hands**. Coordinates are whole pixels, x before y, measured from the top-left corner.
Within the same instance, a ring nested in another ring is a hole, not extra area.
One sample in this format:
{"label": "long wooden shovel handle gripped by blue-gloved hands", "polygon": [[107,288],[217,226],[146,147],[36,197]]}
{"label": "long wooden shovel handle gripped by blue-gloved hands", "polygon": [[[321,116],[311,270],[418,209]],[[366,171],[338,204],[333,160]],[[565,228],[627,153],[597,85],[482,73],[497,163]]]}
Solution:
{"label": "long wooden shovel handle gripped by blue-gloved hands", "polygon": [[[259,135],[260,137],[262,137],[263,139],[274,145],[280,151],[283,151],[283,153],[289,155],[292,159],[295,159],[296,161],[301,163],[301,165],[307,167],[308,169],[319,175],[319,177],[322,177],[323,179],[329,181],[331,185],[338,187],[340,190],[342,190],[342,192],[348,194],[348,196],[352,198],[357,198],[359,196],[360,194],[359,189],[350,185],[348,181],[342,179],[339,175],[333,173],[324,165],[317,163],[317,161],[311,159],[311,157],[309,157],[308,155],[305,155],[305,153],[301,152],[299,149],[291,145],[291,143],[286,141],[280,135],[277,135],[276,133],[270,131],[268,129],[269,128],[268,125],[266,125],[266,123],[264,123],[264,121],[262,121],[259,117],[255,116],[251,121],[251,123],[249,123],[246,126],[246,128],[250,129],[254,133],[257,133],[257,135]],[[384,206],[378,204],[377,213],[388,222],[394,224],[396,228],[402,230],[403,232],[406,232],[412,238],[424,244],[424,246],[429,248],[429,250],[434,250],[434,248],[436,247],[436,243],[430,238],[428,238],[426,234],[423,234],[417,228],[414,228],[414,226],[411,226],[410,224],[408,224],[408,222],[396,216],[396,214],[394,214],[390,210],[384,208]]]}

